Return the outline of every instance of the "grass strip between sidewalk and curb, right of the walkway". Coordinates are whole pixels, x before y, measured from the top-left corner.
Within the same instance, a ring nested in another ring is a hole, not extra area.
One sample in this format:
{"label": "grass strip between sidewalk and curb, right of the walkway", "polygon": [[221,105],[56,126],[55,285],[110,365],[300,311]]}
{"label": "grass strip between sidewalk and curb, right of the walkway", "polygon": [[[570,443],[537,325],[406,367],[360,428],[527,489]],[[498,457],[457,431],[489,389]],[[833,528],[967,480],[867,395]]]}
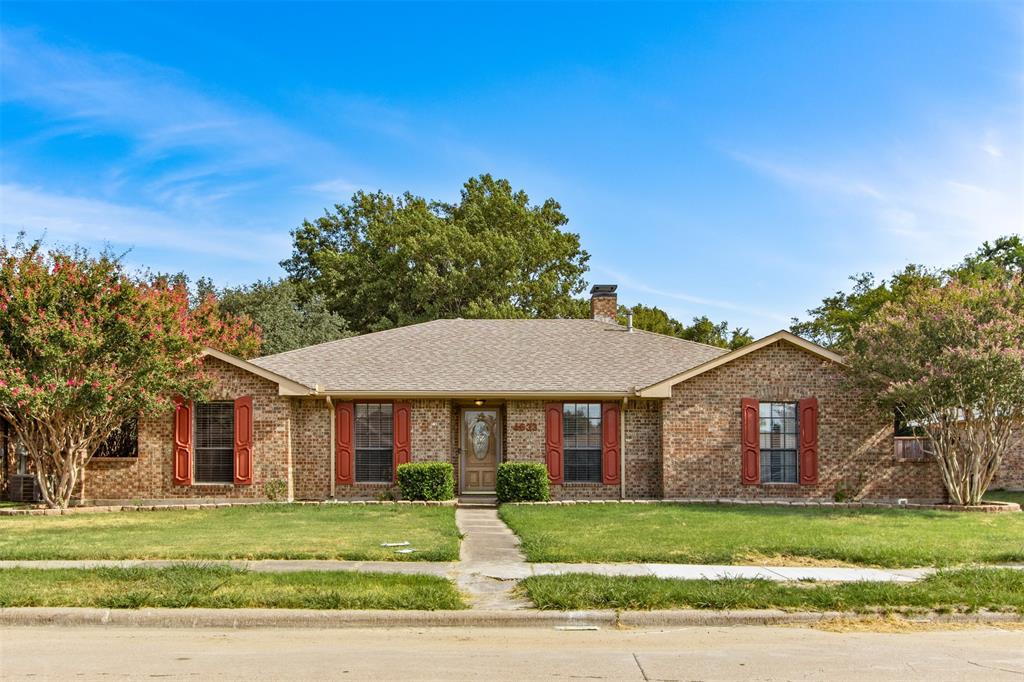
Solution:
{"label": "grass strip between sidewalk and curb, right of the walkway", "polygon": [[520,583],[546,609],[782,608],[792,610],[979,608],[1024,612],[1024,570],[974,568],[916,583],[780,584],[766,580],[683,581],[663,578],[535,576]]}

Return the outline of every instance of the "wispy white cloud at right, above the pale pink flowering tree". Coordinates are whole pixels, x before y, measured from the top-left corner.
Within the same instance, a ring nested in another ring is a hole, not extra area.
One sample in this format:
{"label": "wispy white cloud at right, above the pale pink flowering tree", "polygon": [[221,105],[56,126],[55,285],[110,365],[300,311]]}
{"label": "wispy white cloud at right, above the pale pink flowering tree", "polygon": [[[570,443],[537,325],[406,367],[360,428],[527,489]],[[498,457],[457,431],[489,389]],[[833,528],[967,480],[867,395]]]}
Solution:
{"label": "wispy white cloud at right, above the pale pink flowering tree", "polygon": [[816,161],[728,154],[824,211],[855,217],[865,250],[912,244],[919,257],[947,263],[1024,231],[1021,132],[1013,124],[946,129],[856,154],[829,150]]}

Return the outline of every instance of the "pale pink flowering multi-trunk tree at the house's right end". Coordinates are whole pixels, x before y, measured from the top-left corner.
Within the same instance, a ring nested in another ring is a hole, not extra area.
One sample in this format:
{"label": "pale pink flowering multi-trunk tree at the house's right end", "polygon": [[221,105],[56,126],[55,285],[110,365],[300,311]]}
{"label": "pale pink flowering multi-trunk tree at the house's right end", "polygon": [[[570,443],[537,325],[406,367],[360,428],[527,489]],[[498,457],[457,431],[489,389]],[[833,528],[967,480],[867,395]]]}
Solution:
{"label": "pale pink flowering multi-trunk tree at the house's right end", "polygon": [[952,281],[890,302],[855,335],[854,381],[924,431],[949,498],[977,505],[1024,427],[1024,281]]}

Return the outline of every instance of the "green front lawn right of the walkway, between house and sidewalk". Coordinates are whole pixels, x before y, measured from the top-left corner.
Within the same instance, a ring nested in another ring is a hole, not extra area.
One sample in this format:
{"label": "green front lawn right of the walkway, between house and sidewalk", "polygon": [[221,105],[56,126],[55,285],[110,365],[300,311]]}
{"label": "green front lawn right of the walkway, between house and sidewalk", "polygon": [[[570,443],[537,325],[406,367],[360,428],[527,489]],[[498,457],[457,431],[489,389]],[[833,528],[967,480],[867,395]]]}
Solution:
{"label": "green front lawn right of the walkway, between house and sidewalk", "polygon": [[529,561],[848,563],[1024,561],[1024,514],[727,505],[501,508]]}

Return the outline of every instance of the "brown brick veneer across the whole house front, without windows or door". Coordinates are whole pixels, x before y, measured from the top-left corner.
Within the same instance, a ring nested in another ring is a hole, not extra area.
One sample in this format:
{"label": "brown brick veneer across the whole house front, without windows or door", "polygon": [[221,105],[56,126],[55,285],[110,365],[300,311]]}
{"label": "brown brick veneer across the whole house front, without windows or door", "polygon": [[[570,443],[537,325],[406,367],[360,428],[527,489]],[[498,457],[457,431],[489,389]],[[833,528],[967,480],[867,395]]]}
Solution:
{"label": "brown brick veneer across the whole house front, without windows or door", "polygon": [[[93,460],[82,495],[88,500],[258,499],[271,479],[290,495],[331,495],[331,410],[323,397],[288,398],[275,384],[214,358],[207,369],[214,399],[254,398],[254,484],[176,486],[171,482],[172,417],[139,422],[136,459]],[[842,387],[843,371],[786,342],[778,342],[677,385],[669,399],[630,399],[625,419],[627,499],[730,498],[830,500],[840,486],[859,499],[943,500],[933,463],[900,462],[892,454],[889,420],[871,417]],[[742,485],[739,482],[739,399],[820,402],[819,483]],[[506,461],[545,461],[544,400],[508,400],[501,408]],[[412,460],[451,462],[459,478],[460,406],[447,399],[413,400]],[[13,457],[9,459],[13,467]],[[9,472],[8,472],[9,473]],[[1024,487],[1024,443],[1004,461],[994,485]],[[339,499],[394,495],[389,483],[339,485]],[[566,483],[555,500],[617,499],[620,485]]]}

